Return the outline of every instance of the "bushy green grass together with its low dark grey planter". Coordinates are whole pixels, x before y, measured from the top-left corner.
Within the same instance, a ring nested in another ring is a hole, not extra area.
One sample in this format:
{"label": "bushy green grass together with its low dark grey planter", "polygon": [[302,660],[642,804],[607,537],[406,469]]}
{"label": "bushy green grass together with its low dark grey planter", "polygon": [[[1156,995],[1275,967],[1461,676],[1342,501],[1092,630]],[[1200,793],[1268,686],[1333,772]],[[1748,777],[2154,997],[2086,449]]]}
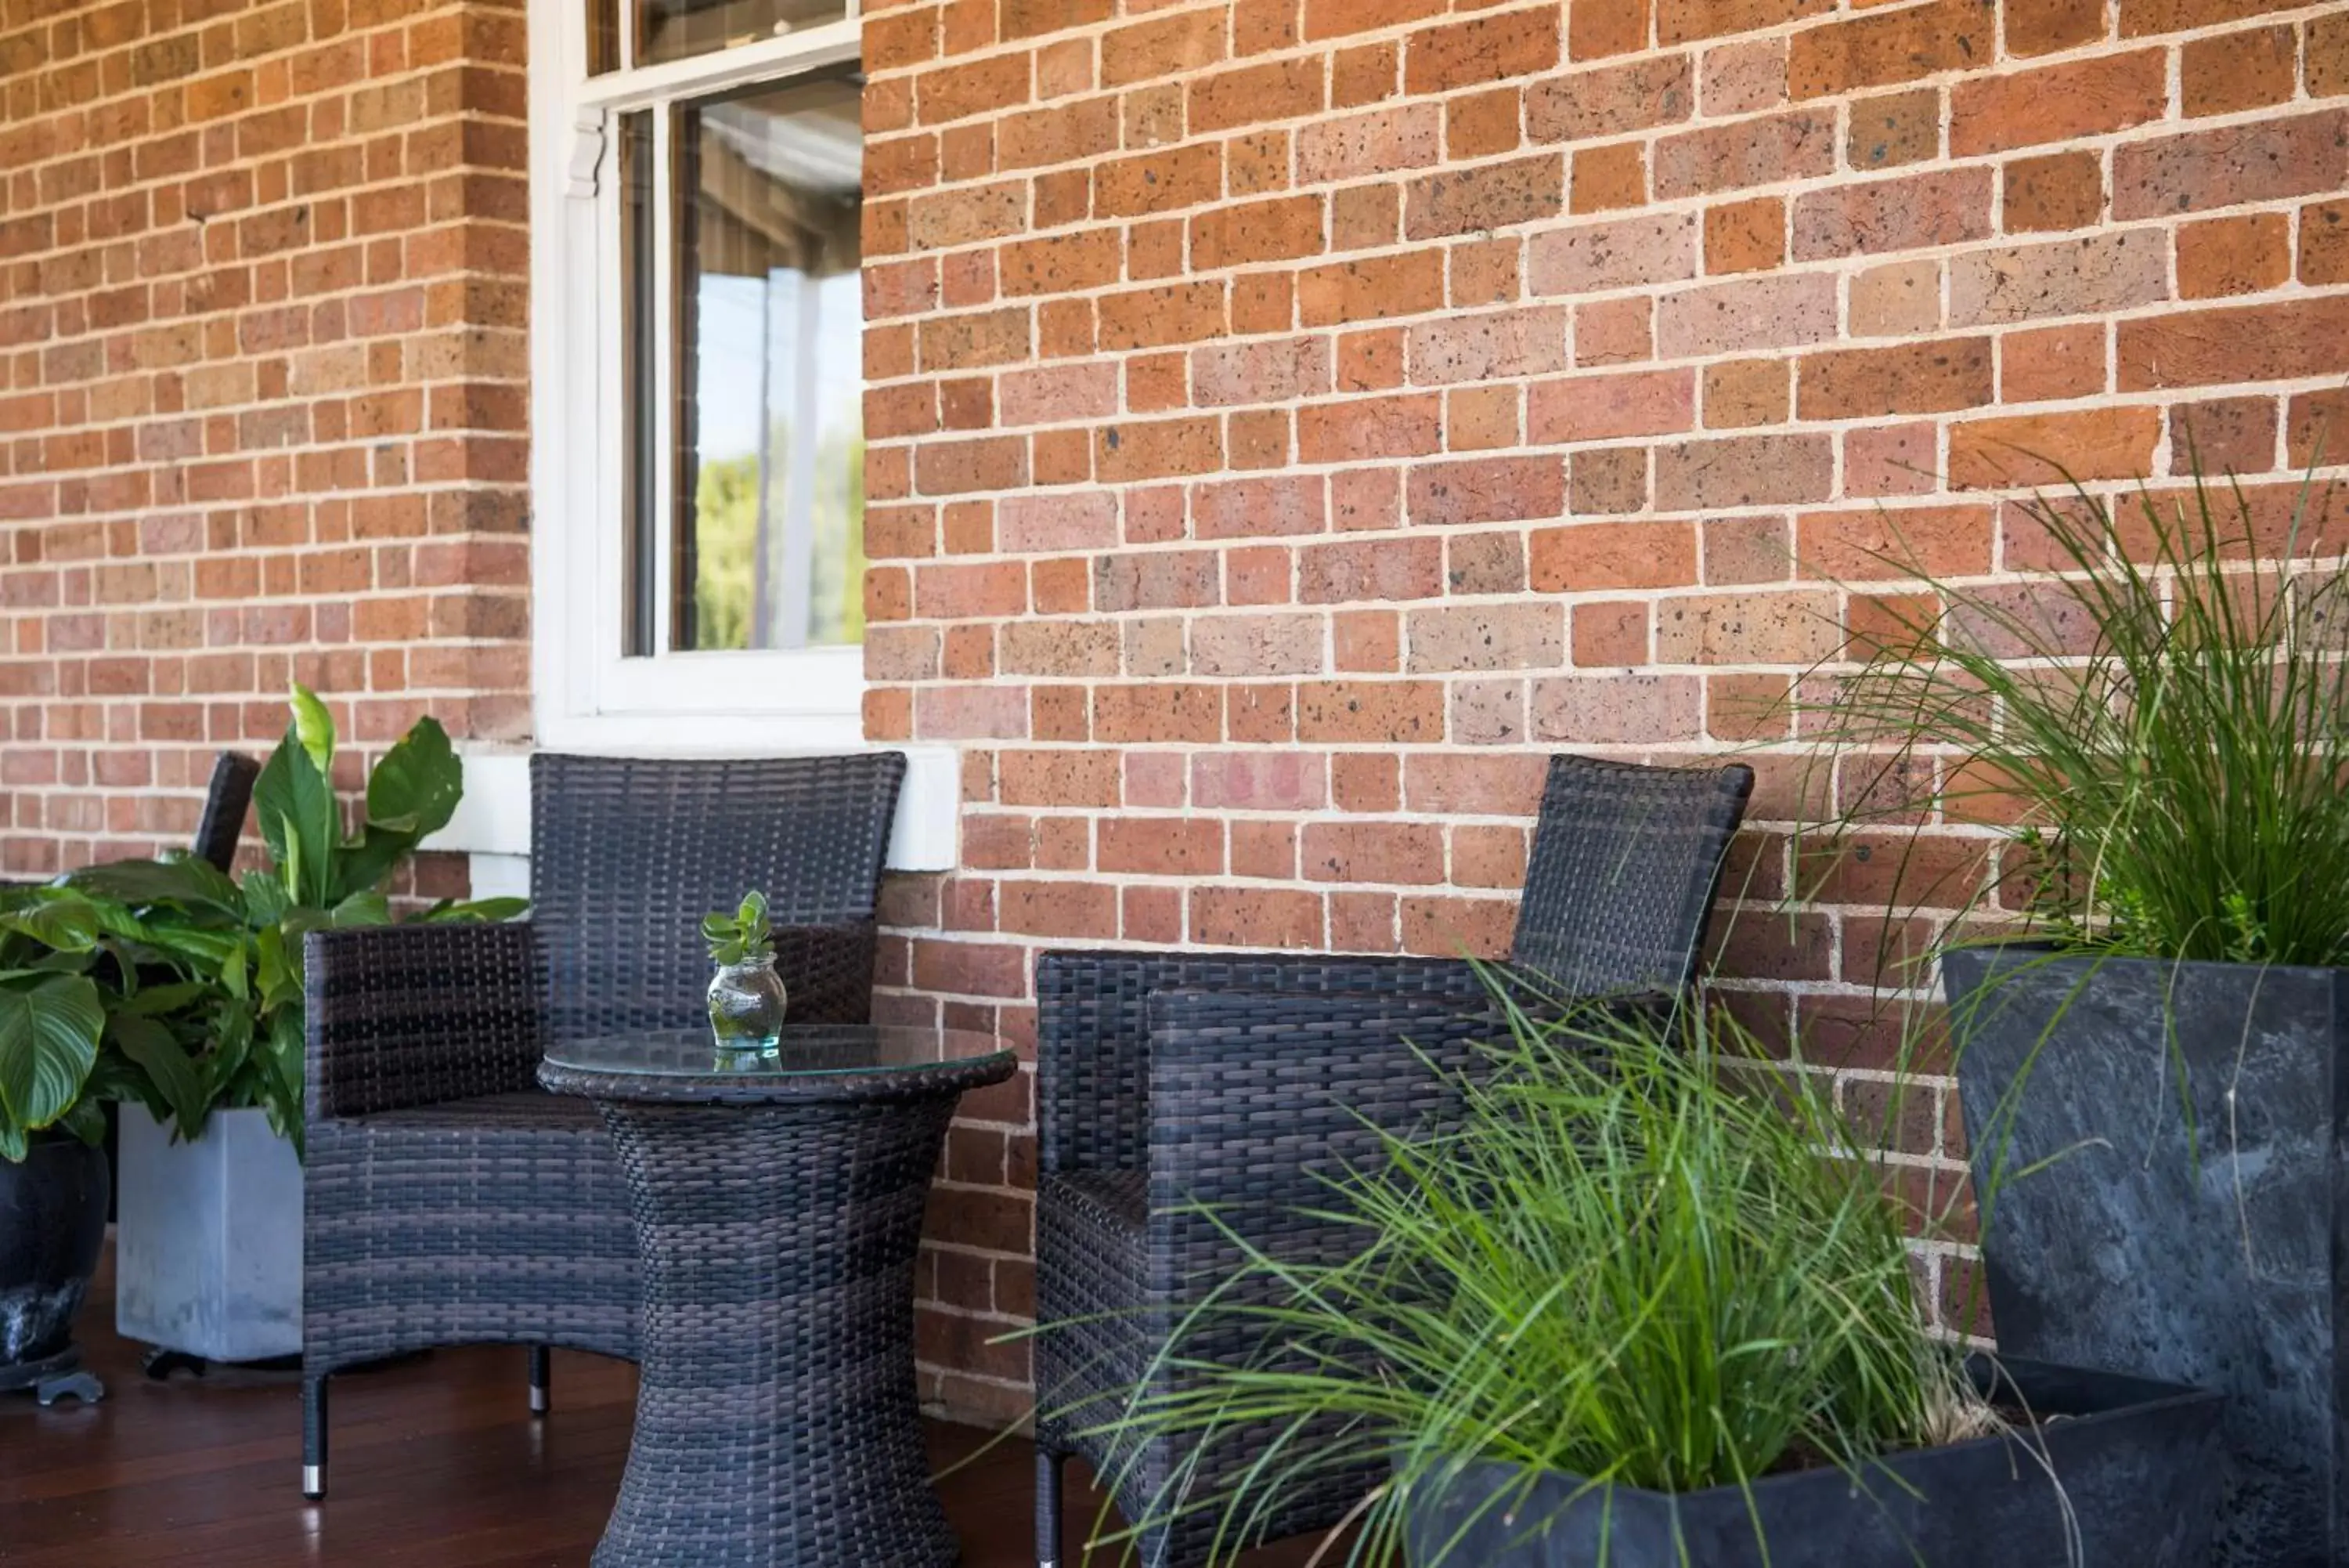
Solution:
{"label": "bushy green grass together with its low dark grey planter", "polygon": [[2215,1396],[1933,1338],[1825,1079],[1719,1018],[1583,1009],[1513,1016],[1459,1095],[1334,1180],[1353,1258],[1231,1232],[1280,1300],[1210,1300],[1172,1392],[1073,1413],[1252,1455],[1226,1495],[1182,1472],[1160,1500],[1221,1516],[1212,1561],[1384,1462],[1348,1563],[2201,1563]]}

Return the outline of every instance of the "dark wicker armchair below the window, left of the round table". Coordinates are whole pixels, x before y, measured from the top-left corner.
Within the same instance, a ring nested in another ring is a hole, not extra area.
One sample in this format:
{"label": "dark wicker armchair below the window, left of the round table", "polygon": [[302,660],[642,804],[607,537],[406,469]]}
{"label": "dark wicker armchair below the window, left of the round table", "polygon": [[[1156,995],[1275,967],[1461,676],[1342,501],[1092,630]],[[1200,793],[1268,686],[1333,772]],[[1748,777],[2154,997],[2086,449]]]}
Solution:
{"label": "dark wicker armchair below the window, left of the round table", "polygon": [[637,1354],[637,1244],[557,1039],[705,1025],[700,917],[766,891],[794,1023],[869,1023],[900,752],[531,759],[529,924],[317,931],[305,947],[303,1493],[327,1378],[432,1345]]}

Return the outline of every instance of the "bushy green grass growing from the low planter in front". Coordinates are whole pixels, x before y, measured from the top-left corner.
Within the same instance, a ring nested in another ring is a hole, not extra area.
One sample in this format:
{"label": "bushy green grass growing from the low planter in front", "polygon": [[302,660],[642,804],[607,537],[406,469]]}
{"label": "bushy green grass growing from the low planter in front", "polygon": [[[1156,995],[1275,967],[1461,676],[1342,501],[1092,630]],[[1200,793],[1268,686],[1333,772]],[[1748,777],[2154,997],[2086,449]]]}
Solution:
{"label": "bushy green grass growing from the low planter in front", "polygon": [[[1226,1561],[1290,1488],[1391,1462],[1344,1549],[1391,1563],[1412,1500],[1475,1460],[1525,1467],[1525,1490],[1567,1472],[1689,1493],[1987,1429],[1825,1084],[1738,1025],[1510,1009],[1456,1091],[1449,1131],[1388,1135],[1332,1182],[1355,1258],[1301,1267],[1231,1229],[1238,1272],[1276,1279],[1280,1305],[1210,1298],[1170,1340],[1170,1380],[1071,1413],[1120,1446],[1191,1446],[1137,1523],[1212,1509]],[[1238,1326],[1254,1354],[1193,1354]],[[1229,1495],[1191,1495],[1205,1455],[1266,1429]]]}

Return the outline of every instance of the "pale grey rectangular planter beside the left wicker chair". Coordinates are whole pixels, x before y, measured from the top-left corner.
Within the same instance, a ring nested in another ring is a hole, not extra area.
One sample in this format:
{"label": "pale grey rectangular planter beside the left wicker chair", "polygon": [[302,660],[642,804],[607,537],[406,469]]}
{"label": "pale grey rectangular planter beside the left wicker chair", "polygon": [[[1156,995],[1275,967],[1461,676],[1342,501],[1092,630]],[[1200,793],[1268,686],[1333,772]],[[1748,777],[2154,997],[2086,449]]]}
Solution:
{"label": "pale grey rectangular planter beside the left wicker chair", "polygon": [[207,1361],[301,1354],[301,1161],[263,1110],[195,1143],[122,1107],[115,1328]]}

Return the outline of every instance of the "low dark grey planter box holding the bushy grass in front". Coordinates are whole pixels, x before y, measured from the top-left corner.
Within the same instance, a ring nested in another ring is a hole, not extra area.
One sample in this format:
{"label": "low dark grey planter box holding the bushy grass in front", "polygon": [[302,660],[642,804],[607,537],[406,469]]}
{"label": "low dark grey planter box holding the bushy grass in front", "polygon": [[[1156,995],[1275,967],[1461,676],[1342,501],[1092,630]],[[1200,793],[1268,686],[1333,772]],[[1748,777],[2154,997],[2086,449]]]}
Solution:
{"label": "low dark grey planter box holding the bushy grass in front", "polygon": [[[1976,1373],[1987,1378],[1980,1363]],[[1990,1436],[1898,1453],[1858,1476],[1842,1469],[1764,1476],[1750,1493],[1586,1490],[1576,1476],[1543,1474],[1520,1495],[1522,1469],[1470,1465],[1442,1497],[1412,1509],[1409,1561],[1412,1568],[2201,1568],[2208,1561],[2217,1394],[2020,1361],[2006,1363],[2006,1375],[2041,1415],[2074,1420],[2051,1422],[2041,1439]]]}

